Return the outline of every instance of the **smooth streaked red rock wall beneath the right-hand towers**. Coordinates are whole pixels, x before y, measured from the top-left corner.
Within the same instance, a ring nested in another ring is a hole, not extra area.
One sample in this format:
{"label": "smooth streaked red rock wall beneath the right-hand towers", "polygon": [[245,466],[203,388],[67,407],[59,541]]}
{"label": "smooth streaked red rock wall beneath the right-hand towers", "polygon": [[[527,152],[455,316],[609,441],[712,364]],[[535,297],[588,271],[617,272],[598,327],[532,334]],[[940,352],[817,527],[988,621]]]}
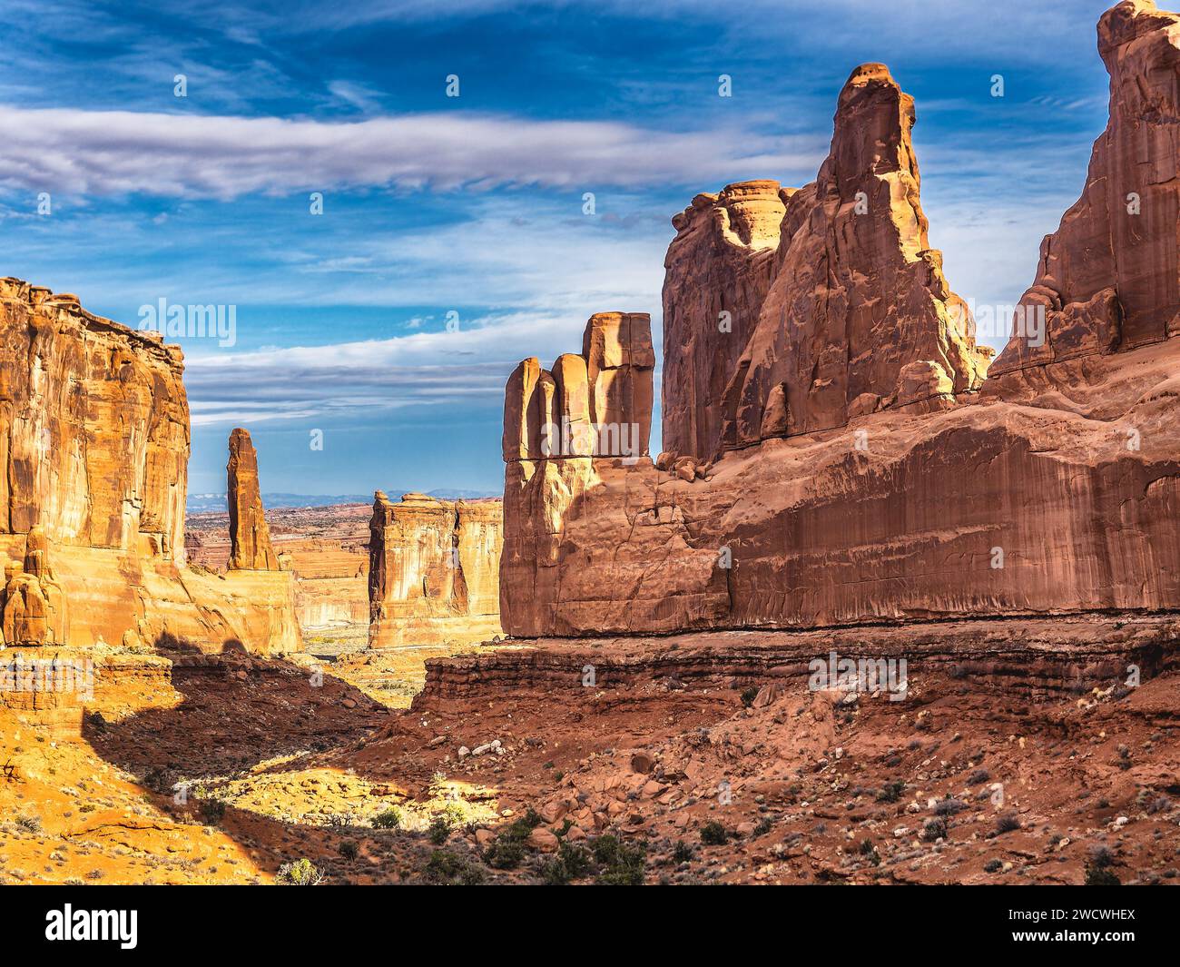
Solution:
{"label": "smooth streaked red rock wall beneath the right-hand towers", "polygon": [[[1027,405],[877,413],[738,451],[691,482],[598,459],[570,489],[562,462],[542,462],[544,483],[524,490],[524,527],[505,535],[505,628],[668,633],[1174,608],[1171,348],[1092,372],[1071,388],[1077,412],[1050,406],[1053,390]],[[525,555],[532,570],[510,554],[523,541],[537,548]]]}

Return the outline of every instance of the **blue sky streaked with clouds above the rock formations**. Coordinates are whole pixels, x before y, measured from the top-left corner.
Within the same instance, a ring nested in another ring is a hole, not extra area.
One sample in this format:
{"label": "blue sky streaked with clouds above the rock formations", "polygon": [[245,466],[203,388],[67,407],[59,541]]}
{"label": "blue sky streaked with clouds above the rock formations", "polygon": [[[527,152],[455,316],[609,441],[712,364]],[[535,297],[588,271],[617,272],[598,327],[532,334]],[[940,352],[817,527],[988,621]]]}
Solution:
{"label": "blue sky streaked with clouds above the rock formations", "polygon": [[236,425],[264,490],[499,490],[514,364],[603,309],[658,335],[671,215],[812,181],[860,63],[916,98],[931,243],[981,305],[1030,283],[1106,123],[1102,2],[168,6],[0,5],[0,274],[129,325],[235,306],[235,345],[178,340],[192,492]]}

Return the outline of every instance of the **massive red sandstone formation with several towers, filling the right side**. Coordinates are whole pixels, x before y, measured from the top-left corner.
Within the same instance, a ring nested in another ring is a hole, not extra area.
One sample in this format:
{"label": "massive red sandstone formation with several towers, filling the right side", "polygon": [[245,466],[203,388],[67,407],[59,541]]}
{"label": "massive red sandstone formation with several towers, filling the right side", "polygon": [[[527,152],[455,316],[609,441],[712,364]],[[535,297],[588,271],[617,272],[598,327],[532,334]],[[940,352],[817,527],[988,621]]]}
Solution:
{"label": "massive red sandstone formation with several towers, filling the right side", "polygon": [[1047,338],[1018,311],[990,375],[929,248],[913,102],[880,64],[840,92],[813,183],[732,184],[674,218],[658,459],[643,431],[625,457],[544,431],[648,425],[645,316],[594,316],[551,372],[522,362],[505,630],[1180,607],[1180,17],[1119,4],[1099,50],[1110,120],[1022,300]]}

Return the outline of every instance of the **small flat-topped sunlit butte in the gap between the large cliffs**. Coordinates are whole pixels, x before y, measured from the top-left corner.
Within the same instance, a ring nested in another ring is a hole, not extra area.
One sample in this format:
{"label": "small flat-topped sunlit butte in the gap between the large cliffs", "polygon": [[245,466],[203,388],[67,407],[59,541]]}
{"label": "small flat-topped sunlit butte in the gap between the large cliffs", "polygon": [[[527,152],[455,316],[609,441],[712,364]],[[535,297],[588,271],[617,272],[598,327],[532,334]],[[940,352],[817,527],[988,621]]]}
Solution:
{"label": "small flat-topped sunlit butte in the gap between the large cliffs", "polygon": [[380,490],[369,522],[369,647],[479,641],[500,633],[499,501]]}

